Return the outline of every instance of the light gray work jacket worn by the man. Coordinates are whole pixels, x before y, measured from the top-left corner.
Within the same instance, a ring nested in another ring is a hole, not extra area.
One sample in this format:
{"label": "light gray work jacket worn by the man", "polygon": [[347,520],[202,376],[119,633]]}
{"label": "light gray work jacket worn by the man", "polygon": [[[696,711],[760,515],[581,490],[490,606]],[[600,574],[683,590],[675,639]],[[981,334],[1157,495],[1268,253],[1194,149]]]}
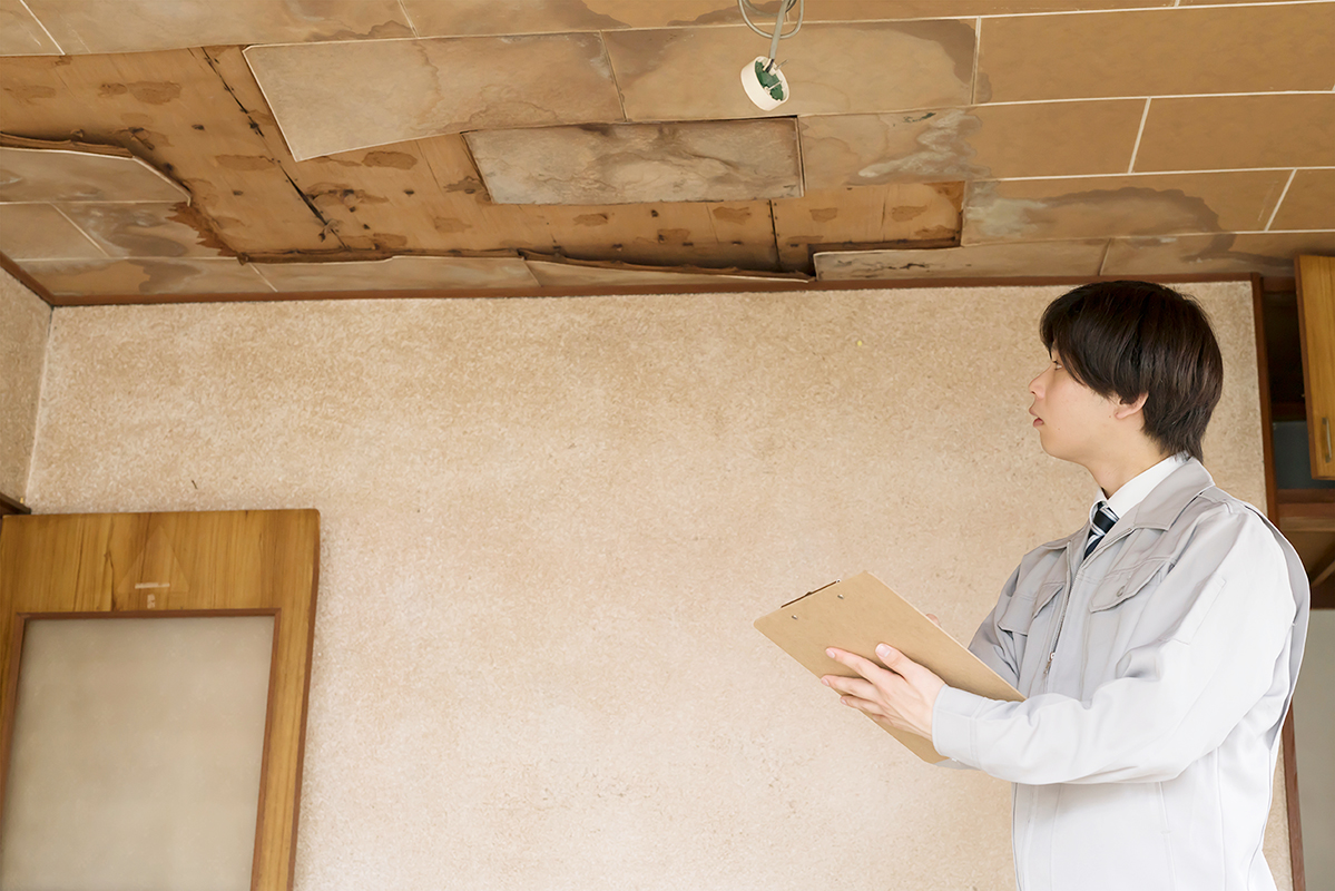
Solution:
{"label": "light gray work jacket worn by the man", "polygon": [[1023,891],[1271,891],[1298,553],[1195,458],[1083,558],[1088,532],[1025,554],[969,644],[1027,700],[947,687],[937,752],[1015,784]]}

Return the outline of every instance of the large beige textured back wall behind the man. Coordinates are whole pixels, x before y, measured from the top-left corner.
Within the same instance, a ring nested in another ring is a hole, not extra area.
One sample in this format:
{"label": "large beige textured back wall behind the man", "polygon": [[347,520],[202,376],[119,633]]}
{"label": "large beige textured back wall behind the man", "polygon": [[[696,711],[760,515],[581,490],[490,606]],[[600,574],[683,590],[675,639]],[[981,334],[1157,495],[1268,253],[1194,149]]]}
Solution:
{"label": "large beige textured back wall behind the man", "polygon": [[[1192,290],[1260,504],[1250,287]],[[59,310],[29,500],[322,512],[302,891],[1007,888],[1008,785],[752,621],[869,569],[968,639],[1084,522],[1027,413],[1060,291]]]}

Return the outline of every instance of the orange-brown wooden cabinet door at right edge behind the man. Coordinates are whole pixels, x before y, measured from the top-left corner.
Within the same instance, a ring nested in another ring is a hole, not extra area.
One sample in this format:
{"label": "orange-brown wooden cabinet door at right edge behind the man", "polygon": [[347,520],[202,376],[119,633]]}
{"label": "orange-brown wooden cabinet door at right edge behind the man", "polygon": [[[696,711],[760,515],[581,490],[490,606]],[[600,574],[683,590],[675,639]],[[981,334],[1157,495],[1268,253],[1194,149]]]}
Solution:
{"label": "orange-brown wooden cabinet door at right edge behind the man", "polygon": [[1312,478],[1335,480],[1335,256],[1299,256],[1296,266]]}

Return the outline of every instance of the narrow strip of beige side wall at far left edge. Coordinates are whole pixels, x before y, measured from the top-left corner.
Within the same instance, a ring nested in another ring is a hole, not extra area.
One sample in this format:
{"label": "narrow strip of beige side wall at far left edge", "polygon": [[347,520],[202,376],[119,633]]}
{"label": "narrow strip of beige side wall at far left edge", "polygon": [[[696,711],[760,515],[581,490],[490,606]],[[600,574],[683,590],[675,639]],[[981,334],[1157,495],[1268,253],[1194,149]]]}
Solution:
{"label": "narrow strip of beige side wall at far left edge", "polygon": [[51,307],[0,270],[0,493],[23,500],[37,427]]}

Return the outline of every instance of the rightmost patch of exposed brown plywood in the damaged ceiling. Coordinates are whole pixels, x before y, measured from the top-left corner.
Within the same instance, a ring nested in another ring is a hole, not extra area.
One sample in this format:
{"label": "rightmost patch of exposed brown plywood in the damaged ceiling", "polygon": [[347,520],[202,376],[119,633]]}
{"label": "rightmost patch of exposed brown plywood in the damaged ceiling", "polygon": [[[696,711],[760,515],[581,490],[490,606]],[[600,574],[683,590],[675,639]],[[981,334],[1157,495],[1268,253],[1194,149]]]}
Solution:
{"label": "rightmost patch of exposed brown plywood in the damaged ceiling", "polygon": [[809,269],[813,244],[957,244],[963,194],[963,183],[892,183],[776,200],[781,266]]}

